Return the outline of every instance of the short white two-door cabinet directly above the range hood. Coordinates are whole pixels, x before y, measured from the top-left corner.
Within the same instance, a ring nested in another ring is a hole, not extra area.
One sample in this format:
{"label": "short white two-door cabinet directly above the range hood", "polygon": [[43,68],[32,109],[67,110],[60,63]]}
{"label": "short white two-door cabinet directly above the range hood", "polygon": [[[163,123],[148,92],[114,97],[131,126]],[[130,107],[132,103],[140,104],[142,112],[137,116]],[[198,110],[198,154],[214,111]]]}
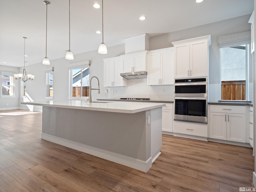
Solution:
{"label": "short white two-door cabinet directly above the range hood", "polygon": [[121,55],[123,72],[147,71],[147,52],[140,51]]}

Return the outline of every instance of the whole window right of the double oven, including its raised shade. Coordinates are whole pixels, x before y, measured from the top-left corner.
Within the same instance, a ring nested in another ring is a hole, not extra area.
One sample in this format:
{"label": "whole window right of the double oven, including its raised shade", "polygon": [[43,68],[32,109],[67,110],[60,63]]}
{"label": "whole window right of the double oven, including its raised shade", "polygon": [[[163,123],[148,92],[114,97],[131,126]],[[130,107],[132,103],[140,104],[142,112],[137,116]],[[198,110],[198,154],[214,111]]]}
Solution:
{"label": "whole window right of the double oven, including its raised shade", "polygon": [[221,100],[249,100],[252,95],[250,31],[220,36]]}

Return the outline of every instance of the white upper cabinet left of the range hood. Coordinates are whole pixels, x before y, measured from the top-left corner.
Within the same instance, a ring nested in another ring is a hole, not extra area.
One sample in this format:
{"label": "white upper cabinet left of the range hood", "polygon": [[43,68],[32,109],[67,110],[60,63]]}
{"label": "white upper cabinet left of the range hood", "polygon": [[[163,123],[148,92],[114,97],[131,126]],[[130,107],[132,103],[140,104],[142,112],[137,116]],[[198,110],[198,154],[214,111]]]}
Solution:
{"label": "white upper cabinet left of the range hood", "polygon": [[104,87],[127,86],[127,80],[120,76],[122,63],[120,56],[104,59]]}

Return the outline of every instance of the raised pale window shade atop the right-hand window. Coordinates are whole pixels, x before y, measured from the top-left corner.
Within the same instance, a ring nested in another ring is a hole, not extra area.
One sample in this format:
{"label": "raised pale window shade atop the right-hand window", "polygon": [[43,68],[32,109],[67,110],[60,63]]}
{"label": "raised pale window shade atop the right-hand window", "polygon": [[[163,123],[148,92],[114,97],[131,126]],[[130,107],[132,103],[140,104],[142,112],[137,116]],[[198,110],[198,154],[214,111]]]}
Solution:
{"label": "raised pale window shade atop the right-hand window", "polygon": [[230,34],[225,36],[219,36],[218,44],[219,48],[238,46],[251,43],[251,32],[241,32],[236,34]]}

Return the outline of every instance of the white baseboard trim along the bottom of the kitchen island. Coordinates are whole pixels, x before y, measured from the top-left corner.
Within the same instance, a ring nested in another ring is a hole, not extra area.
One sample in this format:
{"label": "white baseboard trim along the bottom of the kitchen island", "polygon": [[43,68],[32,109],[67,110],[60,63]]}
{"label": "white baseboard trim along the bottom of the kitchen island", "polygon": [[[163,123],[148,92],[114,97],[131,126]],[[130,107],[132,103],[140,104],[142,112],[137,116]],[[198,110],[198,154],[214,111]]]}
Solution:
{"label": "white baseboard trim along the bottom of the kitchen island", "polygon": [[88,153],[106,160],[110,160],[112,162],[116,162],[128,167],[140,170],[142,172],[147,172],[151,168],[153,160],[155,160],[161,154],[159,152],[154,157],[150,157],[147,161],[142,161],[142,160],[138,160],[128,156],[116,154],[114,152],[110,152],[110,151],[102,150],[96,147],[81,144],[78,142],[48,135],[45,133],[41,133],[41,138],[56,144],[66,146],[68,148],[72,148],[84,153]]}

